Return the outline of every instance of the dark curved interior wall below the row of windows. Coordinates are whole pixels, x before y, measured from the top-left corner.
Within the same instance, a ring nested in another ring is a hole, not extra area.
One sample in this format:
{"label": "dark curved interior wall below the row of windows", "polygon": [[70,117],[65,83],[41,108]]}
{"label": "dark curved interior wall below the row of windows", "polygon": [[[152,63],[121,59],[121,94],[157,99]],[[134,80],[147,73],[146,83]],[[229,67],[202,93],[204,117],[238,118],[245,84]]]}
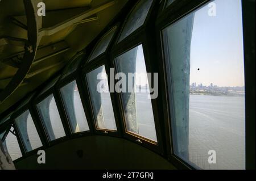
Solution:
{"label": "dark curved interior wall below the row of windows", "polygon": [[37,158],[32,155],[15,163],[16,169],[176,169],[151,150],[109,136],[76,138],[52,146],[46,150],[46,164],[39,165]]}

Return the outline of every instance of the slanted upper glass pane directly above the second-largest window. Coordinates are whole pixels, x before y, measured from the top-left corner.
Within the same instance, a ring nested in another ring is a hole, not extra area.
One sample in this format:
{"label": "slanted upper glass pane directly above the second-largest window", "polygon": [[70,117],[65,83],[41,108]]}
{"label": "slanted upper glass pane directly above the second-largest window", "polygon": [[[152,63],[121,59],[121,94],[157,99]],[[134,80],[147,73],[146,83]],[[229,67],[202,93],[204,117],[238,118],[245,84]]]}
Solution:
{"label": "slanted upper glass pane directly above the second-largest window", "polygon": [[125,39],[127,36],[131,35],[131,33],[133,33],[144,24],[152,2],[153,0],[141,0],[139,3],[137,3],[137,5],[135,5],[135,8],[127,19],[125,27],[123,27],[118,43]]}

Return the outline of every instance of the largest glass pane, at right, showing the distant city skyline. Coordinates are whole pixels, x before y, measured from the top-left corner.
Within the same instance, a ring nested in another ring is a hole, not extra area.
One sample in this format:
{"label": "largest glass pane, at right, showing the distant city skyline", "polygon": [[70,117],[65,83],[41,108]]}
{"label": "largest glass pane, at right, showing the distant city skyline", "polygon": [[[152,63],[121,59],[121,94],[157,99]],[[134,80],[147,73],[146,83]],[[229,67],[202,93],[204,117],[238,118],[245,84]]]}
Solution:
{"label": "largest glass pane, at right, showing the distant city skyline", "polygon": [[175,154],[201,169],[245,169],[241,1],[213,1],[163,40]]}

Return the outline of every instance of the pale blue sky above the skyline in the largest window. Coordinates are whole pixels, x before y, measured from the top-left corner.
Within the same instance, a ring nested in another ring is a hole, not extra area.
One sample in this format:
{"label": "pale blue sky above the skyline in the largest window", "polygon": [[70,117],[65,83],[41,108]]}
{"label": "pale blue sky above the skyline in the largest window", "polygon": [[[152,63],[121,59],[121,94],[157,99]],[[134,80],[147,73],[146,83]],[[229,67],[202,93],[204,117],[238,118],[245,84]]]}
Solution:
{"label": "pale blue sky above the skyline in the largest window", "polygon": [[244,86],[241,1],[213,2],[216,16],[208,15],[208,5],[195,13],[190,84]]}

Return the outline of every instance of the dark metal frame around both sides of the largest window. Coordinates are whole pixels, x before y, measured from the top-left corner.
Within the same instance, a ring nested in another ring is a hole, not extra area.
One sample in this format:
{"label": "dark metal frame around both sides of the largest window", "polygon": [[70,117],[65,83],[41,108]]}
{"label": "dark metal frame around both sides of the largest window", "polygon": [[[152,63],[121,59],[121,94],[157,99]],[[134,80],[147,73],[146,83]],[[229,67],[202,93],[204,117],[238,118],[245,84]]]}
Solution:
{"label": "dark metal frame around both sides of the largest window", "polygon": [[[173,163],[178,169],[200,169],[193,163],[185,162],[183,159],[177,157],[174,154],[174,142],[172,140],[172,128],[171,128],[171,121],[172,121],[172,113],[170,112],[170,106],[172,105],[172,101],[170,100],[169,89],[171,89],[170,85],[168,86],[168,78],[167,78],[167,66],[166,66],[166,58],[164,57],[164,44],[163,44],[163,36],[162,30],[171,24],[177,22],[178,20],[184,18],[184,16],[190,14],[191,12],[199,9],[200,7],[204,6],[206,3],[211,2],[212,0],[184,0],[184,1],[176,1],[172,3],[170,6],[164,10],[161,15],[159,16],[158,20],[156,21],[156,37],[158,39],[157,47],[158,47],[158,59],[160,60],[160,67],[162,69],[160,77],[163,77],[163,81],[161,82],[161,90],[163,91],[162,100],[163,104],[166,106],[164,109],[164,124],[166,129],[166,145],[167,145],[167,155],[168,159]],[[251,6],[251,4],[253,4]],[[255,39],[251,39],[247,32],[254,32],[251,33],[255,37],[255,16],[254,20],[251,19],[250,13],[253,13],[253,10],[250,9],[250,12],[246,11],[250,7],[255,6],[254,2],[249,1],[242,1],[242,13],[243,13],[243,37],[244,40],[244,53],[245,53],[245,88],[246,88],[246,169],[255,169],[255,96],[254,100],[251,99],[253,97],[252,94],[247,95],[248,90],[254,90],[255,95],[255,85],[252,82],[255,82],[255,76],[251,76],[251,74],[255,75],[255,70],[253,68],[255,66],[251,66],[251,63],[254,62],[255,65],[255,53],[251,52],[251,45],[254,44],[255,49]],[[246,9],[246,10],[245,10]],[[255,15],[255,9],[254,9]],[[251,27],[254,24],[254,28]],[[250,27],[250,29],[249,29]],[[247,39],[246,39],[247,38]],[[246,54],[247,53],[247,54]],[[250,74],[250,75],[249,75]],[[254,101],[254,103],[253,103]],[[254,108],[251,106],[254,105]],[[249,108],[249,109],[248,109]]]}

